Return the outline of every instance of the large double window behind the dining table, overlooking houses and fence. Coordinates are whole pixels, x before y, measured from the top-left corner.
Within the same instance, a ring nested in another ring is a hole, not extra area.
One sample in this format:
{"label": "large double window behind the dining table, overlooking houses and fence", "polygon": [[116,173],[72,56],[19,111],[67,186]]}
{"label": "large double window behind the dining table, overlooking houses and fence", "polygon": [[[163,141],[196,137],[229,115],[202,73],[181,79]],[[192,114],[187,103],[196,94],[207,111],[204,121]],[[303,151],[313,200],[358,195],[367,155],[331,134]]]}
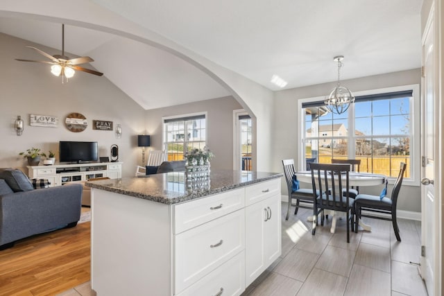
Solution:
{"label": "large double window behind the dining table, overlooking houses and fence", "polygon": [[300,167],[307,162],[331,163],[332,158],[361,159],[361,172],[397,177],[407,163],[406,181],[419,169],[418,85],[355,94],[355,104],[343,114],[327,112],[323,98],[301,100]]}

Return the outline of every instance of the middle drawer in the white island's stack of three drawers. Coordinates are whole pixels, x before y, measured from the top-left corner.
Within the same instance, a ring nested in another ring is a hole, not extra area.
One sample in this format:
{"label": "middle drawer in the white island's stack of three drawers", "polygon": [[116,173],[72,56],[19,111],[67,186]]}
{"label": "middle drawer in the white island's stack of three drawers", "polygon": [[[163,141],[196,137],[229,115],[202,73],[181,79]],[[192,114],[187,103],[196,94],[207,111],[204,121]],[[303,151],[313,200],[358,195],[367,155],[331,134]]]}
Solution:
{"label": "middle drawer in the white island's stack of three drawers", "polygon": [[175,239],[173,278],[179,294],[245,249],[245,209],[189,229]]}

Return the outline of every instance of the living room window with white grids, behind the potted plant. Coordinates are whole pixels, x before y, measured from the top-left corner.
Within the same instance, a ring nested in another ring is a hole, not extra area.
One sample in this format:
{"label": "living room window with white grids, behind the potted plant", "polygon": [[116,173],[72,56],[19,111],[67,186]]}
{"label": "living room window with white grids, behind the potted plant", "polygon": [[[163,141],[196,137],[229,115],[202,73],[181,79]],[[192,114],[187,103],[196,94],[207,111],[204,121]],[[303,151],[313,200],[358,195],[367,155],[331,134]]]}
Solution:
{"label": "living room window with white grids, behind the potted plant", "polygon": [[185,151],[205,147],[206,117],[204,113],[163,119],[163,143],[168,160],[182,160]]}

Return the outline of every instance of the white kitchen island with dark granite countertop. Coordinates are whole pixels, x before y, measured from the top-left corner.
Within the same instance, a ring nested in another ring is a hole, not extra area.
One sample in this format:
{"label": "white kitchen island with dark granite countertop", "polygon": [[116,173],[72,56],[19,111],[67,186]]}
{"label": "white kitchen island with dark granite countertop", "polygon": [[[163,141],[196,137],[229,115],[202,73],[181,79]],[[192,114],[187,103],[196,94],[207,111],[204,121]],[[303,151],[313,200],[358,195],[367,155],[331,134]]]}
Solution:
{"label": "white kitchen island with dark granite countertop", "polygon": [[87,182],[98,295],[240,295],[281,254],[280,173]]}

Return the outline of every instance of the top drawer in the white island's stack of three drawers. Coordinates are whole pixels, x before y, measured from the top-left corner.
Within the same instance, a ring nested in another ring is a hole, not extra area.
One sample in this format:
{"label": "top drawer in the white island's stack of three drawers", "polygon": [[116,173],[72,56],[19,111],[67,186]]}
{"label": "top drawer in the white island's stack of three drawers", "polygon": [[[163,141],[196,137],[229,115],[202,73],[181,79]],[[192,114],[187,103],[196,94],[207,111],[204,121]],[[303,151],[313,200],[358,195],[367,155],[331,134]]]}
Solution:
{"label": "top drawer in the white island's stack of three drawers", "polygon": [[244,207],[244,189],[215,194],[174,206],[174,234],[196,227]]}

